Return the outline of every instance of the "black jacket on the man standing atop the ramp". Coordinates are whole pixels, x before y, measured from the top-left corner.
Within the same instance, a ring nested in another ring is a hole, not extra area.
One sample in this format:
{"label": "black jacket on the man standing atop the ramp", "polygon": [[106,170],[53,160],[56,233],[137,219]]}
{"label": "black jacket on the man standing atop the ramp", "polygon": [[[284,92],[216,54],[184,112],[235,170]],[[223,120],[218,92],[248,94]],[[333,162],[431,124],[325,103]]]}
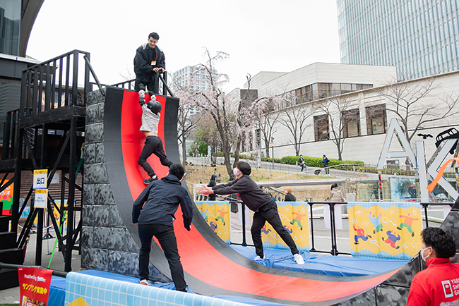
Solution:
{"label": "black jacket on the man standing atop the ramp", "polygon": [[134,57],[134,73],[136,73],[137,80],[148,81],[153,75],[153,68],[166,68],[164,52],[157,46],[155,47],[155,50],[156,65],[151,66],[150,59],[152,51],[150,47],[148,47],[148,42],[137,48],[136,57]]}

